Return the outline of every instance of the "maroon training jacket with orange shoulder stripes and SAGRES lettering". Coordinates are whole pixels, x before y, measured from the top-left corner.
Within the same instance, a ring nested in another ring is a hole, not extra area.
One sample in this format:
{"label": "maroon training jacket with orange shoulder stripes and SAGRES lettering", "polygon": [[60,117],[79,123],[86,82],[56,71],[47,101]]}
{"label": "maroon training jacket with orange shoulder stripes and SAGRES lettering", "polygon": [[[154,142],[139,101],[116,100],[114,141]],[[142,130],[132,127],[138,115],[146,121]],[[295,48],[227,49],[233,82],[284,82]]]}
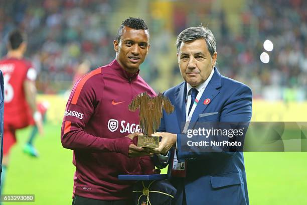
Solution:
{"label": "maroon training jacket with orange shoulder stripes and SAGRES lettering", "polygon": [[132,184],[118,180],[118,174],[148,174],[154,169],[149,157],[128,158],[132,141],[124,137],[140,132],[139,112],[128,111],[128,105],[141,92],[156,95],[138,72],[126,72],[116,60],[74,85],[61,130],[63,147],[74,150],[74,194],[100,200],[127,199]]}

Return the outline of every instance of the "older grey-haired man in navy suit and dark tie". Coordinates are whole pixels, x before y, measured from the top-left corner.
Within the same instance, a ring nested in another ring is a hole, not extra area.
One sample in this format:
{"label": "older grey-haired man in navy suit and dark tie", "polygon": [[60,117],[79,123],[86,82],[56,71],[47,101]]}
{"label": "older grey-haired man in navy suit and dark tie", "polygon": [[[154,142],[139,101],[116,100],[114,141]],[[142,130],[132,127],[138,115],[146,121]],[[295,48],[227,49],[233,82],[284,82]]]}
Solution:
{"label": "older grey-haired man in navy suit and dark tie", "polygon": [[192,122],[248,123],[251,89],[219,73],[216,41],[206,27],[179,34],[177,57],[185,81],[164,92],[175,112],[164,112],[160,132],[154,134],[162,136],[155,152],[166,157],[159,155],[156,160],[159,168],[170,164],[170,180],[177,188],[175,204],[249,204],[242,152],[184,150],[181,143],[187,138],[184,130],[193,129]]}

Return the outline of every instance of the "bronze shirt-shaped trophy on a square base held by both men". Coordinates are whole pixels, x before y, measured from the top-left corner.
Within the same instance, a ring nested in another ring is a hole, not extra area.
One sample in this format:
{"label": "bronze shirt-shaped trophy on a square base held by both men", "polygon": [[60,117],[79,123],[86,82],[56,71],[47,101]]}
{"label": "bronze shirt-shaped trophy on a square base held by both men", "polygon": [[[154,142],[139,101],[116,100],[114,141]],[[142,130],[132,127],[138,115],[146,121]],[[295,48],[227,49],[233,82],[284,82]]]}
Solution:
{"label": "bronze shirt-shaped trophy on a square base held by both men", "polygon": [[163,109],[167,114],[174,112],[174,106],[170,99],[159,93],[156,97],[150,97],[146,92],[136,95],[130,102],[128,109],[135,112],[139,108],[139,126],[143,135],[137,139],[138,147],[157,148],[159,147],[159,136],[151,136],[155,133],[161,123]]}

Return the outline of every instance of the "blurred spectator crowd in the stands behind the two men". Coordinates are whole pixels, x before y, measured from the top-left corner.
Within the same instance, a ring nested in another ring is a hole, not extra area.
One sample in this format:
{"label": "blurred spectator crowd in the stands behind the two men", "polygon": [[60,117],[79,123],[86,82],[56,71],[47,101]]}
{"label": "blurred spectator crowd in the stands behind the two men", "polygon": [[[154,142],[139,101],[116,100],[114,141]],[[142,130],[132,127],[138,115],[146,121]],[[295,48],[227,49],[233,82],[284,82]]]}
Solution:
{"label": "blurred spectator crowd in the stands behind the two men", "polygon": [[[0,54],[4,56],[6,53],[8,33],[14,28],[21,28],[28,34],[27,57],[40,73],[37,82],[39,91],[58,93],[70,89],[74,75],[84,61],[88,61],[94,69],[115,57],[112,42],[116,35],[114,27],[117,28],[119,23],[114,26],[116,21],[112,18],[116,18],[114,14],[117,13],[118,18],[122,18],[123,2],[0,0]],[[182,4],[183,1],[179,2]],[[191,2],[202,4],[202,1],[196,0],[187,1],[187,4]],[[165,29],[161,26],[163,17],[149,11],[152,7],[148,6],[148,1],[138,3],[144,4],[143,8],[148,10],[142,12],[148,14],[144,19],[150,34],[153,34],[150,36],[150,55],[142,65],[144,71],[141,75],[157,91],[163,91],[178,82],[170,81],[170,76],[163,77],[166,67],[172,79],[180,80],[176,36],[184,28],[207,24],[200,21],[197,14],[191,16],[193,11],[187,11],[185,6],[180,8],[176,6],[177,1],[172,1],[172,27]],[[246,1],[237,11],[239,32],[232,29],[234,20],[228,18],[227,11],[220,9],[218,15],[206,11],[205,15],[209,19],[215,18],[219,25],[218,29],[211,28],[212,24],[208,27],[216,35],[217,67],[222,74],[249,85],[254,97],[304,100],[307,90],[306,5],[303,0]],[[274,45],[270,52],[263,48],[266,39]],[[174,48],[166,48],[168,45]],[[162,58],[161,53],[170,51],[174,52],[169,54],[173,58]],[[260,61],[262,52],[267,52],[270,57],[266,64]]]}

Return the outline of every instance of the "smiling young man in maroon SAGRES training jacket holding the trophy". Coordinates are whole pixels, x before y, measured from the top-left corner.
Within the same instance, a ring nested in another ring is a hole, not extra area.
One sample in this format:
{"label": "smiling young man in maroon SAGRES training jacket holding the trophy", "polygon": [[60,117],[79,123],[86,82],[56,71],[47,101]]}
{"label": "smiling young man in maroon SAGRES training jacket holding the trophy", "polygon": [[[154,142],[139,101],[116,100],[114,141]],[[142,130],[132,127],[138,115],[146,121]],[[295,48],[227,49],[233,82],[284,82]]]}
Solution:
{"label": "smiling young man in maroon SAGRES training jacket holding the trophy", "polygon": [[73,150],[76,166],[73,204],[128,204],[132,184],[118,180],[118,174],[150,174],[154,169],[151,153],[131,140],[140,132],[139,116],[128,111],[135,95],[156,95],[138,75],[148,49],[145,22],[126,19],[114,40],[116,58],[73,87],[61,130],[62,145]]}

